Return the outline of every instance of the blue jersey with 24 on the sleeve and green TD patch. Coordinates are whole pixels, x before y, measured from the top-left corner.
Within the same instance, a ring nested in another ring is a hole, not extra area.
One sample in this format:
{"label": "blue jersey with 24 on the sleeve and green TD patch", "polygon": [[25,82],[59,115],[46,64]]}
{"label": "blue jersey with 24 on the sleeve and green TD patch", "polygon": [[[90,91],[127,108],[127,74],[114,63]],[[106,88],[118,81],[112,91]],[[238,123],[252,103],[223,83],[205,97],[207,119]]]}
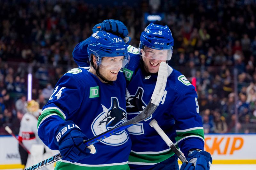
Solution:
{"label": "blue jersey with 24 on the sleeve and green TD patch", "polygon": [[[106,84],[83,67],[69,70],[56,84],[38,119],[39,137],[49,148],[58,150],[55,132],[64,121],[75,122],[88,138],[126,122],[125,87],[122,72],[113,84]],[[129,169],[131,141],[127,130],[94,145],[96,154],[76,163],[60,160],[57,168]]]}

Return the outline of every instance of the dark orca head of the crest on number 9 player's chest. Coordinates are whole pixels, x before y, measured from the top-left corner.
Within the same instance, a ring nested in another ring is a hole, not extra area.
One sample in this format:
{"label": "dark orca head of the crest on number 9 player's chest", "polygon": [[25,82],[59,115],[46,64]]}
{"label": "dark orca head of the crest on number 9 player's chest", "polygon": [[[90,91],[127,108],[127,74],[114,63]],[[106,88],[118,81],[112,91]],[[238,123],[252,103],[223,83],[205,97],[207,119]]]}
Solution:
{"label": "dark orca head of the crest on number 9 player's chest", "polygon": [[[138,87],[135,95],[131,95],[126,89],[126,111],[128,115],[140,114],[147,105],[142,100],[144,90],[141,87]],[[145,121],[151,119],[152,115],[145,119]]]}

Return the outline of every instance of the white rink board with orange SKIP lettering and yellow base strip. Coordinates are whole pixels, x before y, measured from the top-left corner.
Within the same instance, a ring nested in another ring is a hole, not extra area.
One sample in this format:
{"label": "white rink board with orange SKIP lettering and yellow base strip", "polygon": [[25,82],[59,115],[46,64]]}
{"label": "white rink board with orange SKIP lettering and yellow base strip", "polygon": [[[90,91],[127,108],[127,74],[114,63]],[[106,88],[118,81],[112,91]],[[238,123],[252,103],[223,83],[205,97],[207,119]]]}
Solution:
{"label": "white rink board with orange SKIP lettering and yellow base strip", "polygon": [[206,134],[204,142],[215,164],[256,164],[256,134]]}

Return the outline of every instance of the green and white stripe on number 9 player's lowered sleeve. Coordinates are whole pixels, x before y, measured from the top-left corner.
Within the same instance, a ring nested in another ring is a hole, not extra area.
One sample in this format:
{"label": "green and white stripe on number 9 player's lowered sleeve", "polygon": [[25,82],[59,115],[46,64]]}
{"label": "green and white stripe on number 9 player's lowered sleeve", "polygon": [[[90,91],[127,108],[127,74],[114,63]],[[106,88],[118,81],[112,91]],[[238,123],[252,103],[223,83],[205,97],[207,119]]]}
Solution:
{"label": "green and white stripe on number 9 player's lowered sleeve", "polygon": [[176,130],[177,137],[175,140],[180,142],[181,140],[188,137],[199,137],[204,140],[204,129],[203,127],[191,128],[187,130]]}

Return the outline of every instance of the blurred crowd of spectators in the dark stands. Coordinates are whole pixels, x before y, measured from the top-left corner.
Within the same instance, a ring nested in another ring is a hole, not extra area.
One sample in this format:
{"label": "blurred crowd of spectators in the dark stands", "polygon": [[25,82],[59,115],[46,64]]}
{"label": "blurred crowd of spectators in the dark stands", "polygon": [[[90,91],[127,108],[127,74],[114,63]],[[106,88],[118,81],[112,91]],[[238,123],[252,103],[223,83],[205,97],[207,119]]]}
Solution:
{"label": "blurred crowd of spectators in the dark stands", "polygon": [[[148,1],[88,4],[84,1],[0,1],[0,134],[19,131],[26,113],[27,74],[40,108],[57,80],[77,67],[72,51],[104,19],[124,22],[138,47],[149,22],[145,12],[164,12],[157,24],[174,37],[169,64],[196,78],[205,133],[256,132],[256,3],[244,1]],[[152,13],[154,14],[154,13]],[[235,90],[237,89],[237,93]],[[236,117],[238,116],[238,117]]]}

